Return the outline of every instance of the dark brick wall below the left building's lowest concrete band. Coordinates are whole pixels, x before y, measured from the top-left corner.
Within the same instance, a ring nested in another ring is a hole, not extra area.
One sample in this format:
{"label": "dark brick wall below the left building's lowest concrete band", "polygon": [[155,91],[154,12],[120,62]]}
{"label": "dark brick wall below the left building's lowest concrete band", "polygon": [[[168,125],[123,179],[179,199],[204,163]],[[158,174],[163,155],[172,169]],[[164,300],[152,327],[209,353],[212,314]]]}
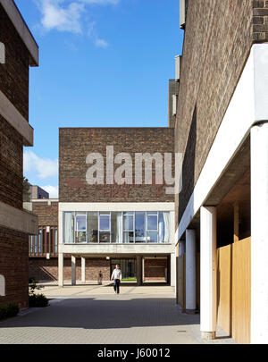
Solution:
{"label": "dark brick wall below the left building's lowest concrete band", "polygon": [[28,235],[0,227],[0,274],[5,279],[5,297],[0,306],[9,302],[28,306]]}

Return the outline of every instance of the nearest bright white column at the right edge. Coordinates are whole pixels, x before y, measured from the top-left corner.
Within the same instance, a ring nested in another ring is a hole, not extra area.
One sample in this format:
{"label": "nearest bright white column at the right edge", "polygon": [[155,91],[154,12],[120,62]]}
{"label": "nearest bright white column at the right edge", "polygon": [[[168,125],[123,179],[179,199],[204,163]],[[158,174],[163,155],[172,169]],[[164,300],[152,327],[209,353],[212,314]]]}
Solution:
{"label": "nearest bright white column at the right edge", "polygon": [[251,129],[251,343],[268,343],[268,123]]}

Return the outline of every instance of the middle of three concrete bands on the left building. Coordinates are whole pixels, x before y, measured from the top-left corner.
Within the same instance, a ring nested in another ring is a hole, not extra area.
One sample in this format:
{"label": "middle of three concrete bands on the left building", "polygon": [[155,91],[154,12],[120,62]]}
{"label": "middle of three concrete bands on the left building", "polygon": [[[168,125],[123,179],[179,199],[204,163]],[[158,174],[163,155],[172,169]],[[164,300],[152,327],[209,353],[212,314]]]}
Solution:
{"label": "middle of three concrete bands on the left building", "polygon": [[1,90],[0,114],[21,134],[24,146],[33,146],[33,128]]}

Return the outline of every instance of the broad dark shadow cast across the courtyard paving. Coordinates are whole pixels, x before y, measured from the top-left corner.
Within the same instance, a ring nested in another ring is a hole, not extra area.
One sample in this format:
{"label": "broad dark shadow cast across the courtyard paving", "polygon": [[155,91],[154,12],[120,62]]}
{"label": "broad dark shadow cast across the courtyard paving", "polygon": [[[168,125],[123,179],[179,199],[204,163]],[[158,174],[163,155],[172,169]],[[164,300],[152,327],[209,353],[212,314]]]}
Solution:
{"label": "broad dark shadow cast across the courtyard paving", "polygon": [[170,298],[64,299],[27,316],[1,323],[4,328],[57,327],[114,329],[199,324],[199,316],[183,315]]}

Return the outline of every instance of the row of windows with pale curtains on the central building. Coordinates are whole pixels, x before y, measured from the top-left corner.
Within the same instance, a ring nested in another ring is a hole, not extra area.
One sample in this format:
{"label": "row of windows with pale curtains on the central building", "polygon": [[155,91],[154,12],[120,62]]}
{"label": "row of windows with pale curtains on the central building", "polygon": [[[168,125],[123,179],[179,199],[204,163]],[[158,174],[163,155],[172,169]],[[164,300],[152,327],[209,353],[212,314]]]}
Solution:
{"label": "row of windows with pale curtains on the central building", "polygon": [[64,212],[63,242],[169,243],[170,213]]}

